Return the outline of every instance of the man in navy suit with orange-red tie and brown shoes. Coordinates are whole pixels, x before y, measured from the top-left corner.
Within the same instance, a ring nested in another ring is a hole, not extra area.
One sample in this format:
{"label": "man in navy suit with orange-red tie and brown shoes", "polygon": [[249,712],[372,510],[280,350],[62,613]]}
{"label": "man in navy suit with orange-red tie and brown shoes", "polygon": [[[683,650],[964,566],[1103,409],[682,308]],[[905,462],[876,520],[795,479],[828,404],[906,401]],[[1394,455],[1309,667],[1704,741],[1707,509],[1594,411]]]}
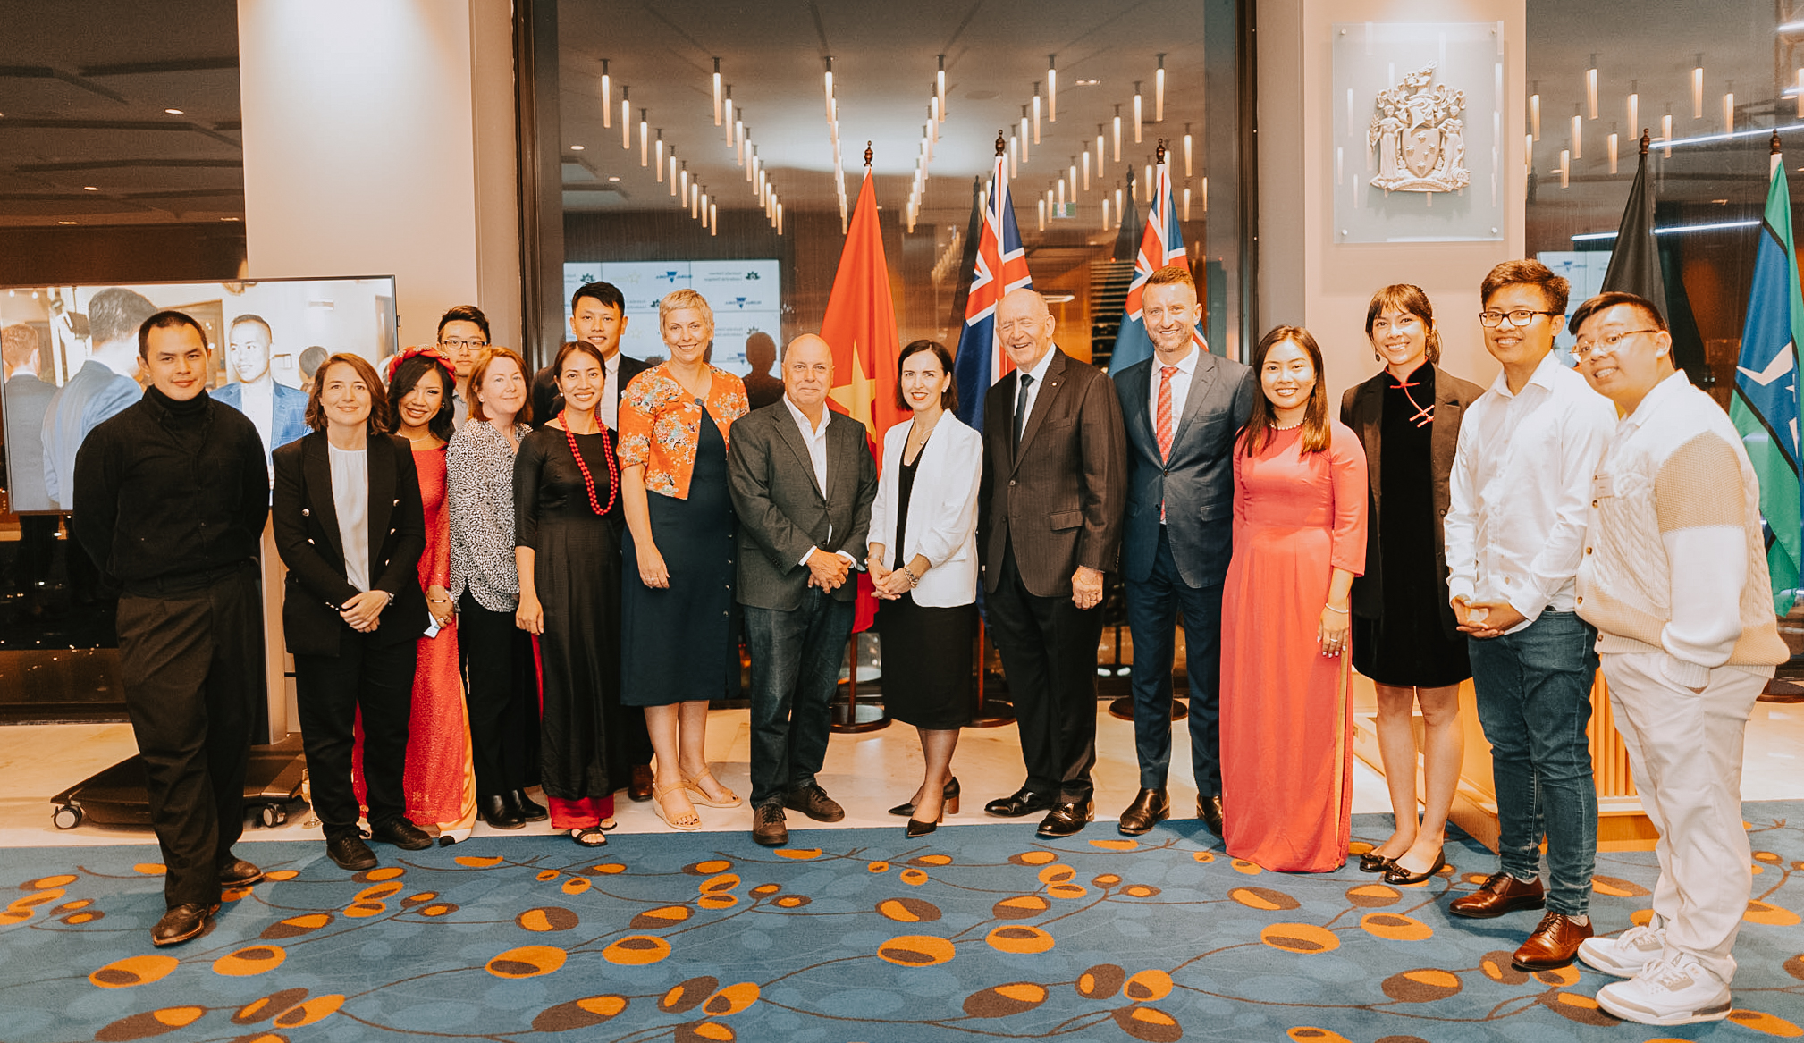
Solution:
{"label": "man in navy suit with orange-red tie and brown shoes", "polygon": [[1252,411],[1252,370],[1192,339],[1203,309],[1180,265],[1146,280],[1153,357],[1115,377],[1128,424],[1122,579],[1133,633],[1140,794],[1120,817],[1138,835],[1171,816],[1173,630],[1183,614],[1196,816],[1221,832],[1221,583],[1234,552],[1234,437]]}

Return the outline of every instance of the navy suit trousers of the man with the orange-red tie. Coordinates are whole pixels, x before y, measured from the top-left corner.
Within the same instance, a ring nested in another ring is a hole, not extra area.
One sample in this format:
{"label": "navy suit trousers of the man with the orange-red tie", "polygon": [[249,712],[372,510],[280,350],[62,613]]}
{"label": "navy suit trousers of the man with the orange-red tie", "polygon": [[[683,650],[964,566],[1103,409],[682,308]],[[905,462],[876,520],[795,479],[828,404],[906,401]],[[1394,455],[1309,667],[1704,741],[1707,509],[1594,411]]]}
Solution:
{"label": "navy suit trousers of the man with the orange-red tie", "polygon": [[1171,765],[1173,630],[1183,614],[1185,673],[1191,678],[1191,778],[1200,796],[1221,792],[1221,590],[1189,586],[1158,527],[1153,572],[1128,581],[1128,630],[1133,633],[1133,742],[1140,787],[1165,789]]}

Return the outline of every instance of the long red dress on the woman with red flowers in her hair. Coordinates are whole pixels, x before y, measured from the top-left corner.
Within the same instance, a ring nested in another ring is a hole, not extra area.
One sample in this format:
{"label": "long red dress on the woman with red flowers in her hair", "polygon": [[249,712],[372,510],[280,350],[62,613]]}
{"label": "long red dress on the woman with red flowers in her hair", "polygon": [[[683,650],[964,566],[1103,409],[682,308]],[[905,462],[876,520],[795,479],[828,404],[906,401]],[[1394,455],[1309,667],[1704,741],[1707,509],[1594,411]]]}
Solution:
{"label": "long red dress on the woman with red flowers in her hair", "polygon": [[[420,554],[420,588],[451,586],[451,529],[446,500],[446,448],[415,449],[420,473],[420,503],[426,507],[426,552]],[[352,781],[364,799],[363,729],[352,749]],[[413,709],[408,716],[408,765],[402,776],[408,819],[438,826],[456,839],[476,823],[476,772],[471,761],[469,716],[464,709],[464,675],[456,660],[456,617],[433,637],[420,637],[413,668]]]}

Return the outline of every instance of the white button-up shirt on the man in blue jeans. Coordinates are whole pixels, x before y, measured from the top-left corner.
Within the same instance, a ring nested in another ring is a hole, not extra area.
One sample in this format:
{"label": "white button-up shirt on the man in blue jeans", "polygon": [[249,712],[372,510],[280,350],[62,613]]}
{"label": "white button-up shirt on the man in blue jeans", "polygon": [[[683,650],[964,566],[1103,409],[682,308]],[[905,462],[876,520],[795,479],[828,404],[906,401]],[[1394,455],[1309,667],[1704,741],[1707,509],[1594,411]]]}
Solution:
{"label": "white button-up shirt on the man in blue jeans", "polygon": [[1523,390],[1497,374],[1459,422],[1445,518],[1449,597],[1506,601],[1521,630],[1575,608],[1591,476],[1616,408],[1548,352]]}

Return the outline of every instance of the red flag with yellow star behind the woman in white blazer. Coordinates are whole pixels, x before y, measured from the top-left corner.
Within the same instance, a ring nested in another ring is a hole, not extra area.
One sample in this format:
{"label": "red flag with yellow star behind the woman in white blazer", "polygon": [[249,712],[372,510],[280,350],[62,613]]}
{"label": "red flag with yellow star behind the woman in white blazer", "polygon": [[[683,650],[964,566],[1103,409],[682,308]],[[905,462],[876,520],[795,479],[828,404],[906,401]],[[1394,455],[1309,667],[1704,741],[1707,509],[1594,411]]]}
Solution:
{"label": "red flag with yellow star behind the woman in white blazer", "polygon": [[[833,292],[826,298],[821,339],[833,348],[833,388],[828,404],[864,424],[871,455],[882,466],[877,448],[891,424],[906,420],[897,408],[897,365],[902,345],[897,339],[897,309],[889,300],[889,265],[877,229],[877,189],[871,168],[864,168],[859,204],[851,211],[846,249],[839,254]],[[853,550],[859,554],[859,550]],[[877,619],[871,577],[859,572],[859,603],[853,630],[870,630]]]}

